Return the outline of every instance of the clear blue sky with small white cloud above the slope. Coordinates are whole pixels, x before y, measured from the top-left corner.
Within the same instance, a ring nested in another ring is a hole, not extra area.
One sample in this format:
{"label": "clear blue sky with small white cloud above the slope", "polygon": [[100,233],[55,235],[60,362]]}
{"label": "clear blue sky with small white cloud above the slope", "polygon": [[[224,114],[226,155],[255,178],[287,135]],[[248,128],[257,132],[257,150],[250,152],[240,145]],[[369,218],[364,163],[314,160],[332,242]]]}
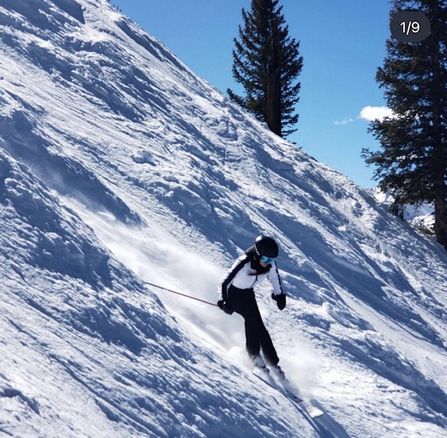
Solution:
{"label": "clear blue sky with small white cloud above the slope", "polygon": [[[165,43],[194,73],[223,93],[231,74],[233,38],[251,0],[112,0]],[[388,0],[280,0],[290,35],[300,40],[304,67],[298,131],[288,140],[360,186],[375,186],[362,148],[377,149],[367,133],[385,107],[376,70],[390,36]],[[372,107],[372,108],[369,108]]]}

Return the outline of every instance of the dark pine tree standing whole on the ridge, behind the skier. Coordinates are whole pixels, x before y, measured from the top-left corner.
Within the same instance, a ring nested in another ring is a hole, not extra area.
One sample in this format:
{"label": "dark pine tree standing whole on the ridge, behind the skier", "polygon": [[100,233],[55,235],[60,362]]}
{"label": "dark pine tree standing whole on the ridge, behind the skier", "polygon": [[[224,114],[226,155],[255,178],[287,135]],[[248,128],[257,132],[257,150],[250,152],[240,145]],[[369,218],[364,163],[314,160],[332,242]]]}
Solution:
{"label": "dark pine tree standing whole on the ridge, behind the skier", "polygon": [[242,8],[244,27],[239,27],[233,49],[233,77],[245,96],[230,89],[235,103],[268,123],[275,134],[286,137],[298,123],[298,103],[302,70],[300,42],[288,34],[279,0],[252,0],[251,10]]}

